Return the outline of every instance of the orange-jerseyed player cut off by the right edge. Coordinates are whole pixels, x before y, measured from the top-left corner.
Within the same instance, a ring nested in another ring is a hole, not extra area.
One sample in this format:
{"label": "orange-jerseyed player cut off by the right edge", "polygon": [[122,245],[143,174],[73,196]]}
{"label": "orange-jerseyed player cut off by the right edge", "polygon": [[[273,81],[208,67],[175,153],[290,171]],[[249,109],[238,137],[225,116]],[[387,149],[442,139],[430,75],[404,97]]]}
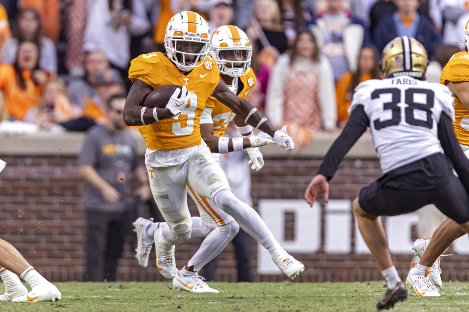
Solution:
{"label": "orange-jerseyed player cut off by the right edge", "polygon": [[[448,86],[454,95],[454,133],[464,154],[469,157],[469,20],[464,29],[466,51],[454,54],[443,68],[440,83]],[[459,42],[459,41],[458,41]],[[449,245],[466,232],[453,220],[446,219],[435,230],[431,239],[417,239],[412,249],[421,259],[412,265],[407,280],[424,276],[429,269],[428,277],[431,282],[442,286],[440,255]],[[417,293],[418,294],[418,293]],[[420,295],[420,294],[419,294]]]}

